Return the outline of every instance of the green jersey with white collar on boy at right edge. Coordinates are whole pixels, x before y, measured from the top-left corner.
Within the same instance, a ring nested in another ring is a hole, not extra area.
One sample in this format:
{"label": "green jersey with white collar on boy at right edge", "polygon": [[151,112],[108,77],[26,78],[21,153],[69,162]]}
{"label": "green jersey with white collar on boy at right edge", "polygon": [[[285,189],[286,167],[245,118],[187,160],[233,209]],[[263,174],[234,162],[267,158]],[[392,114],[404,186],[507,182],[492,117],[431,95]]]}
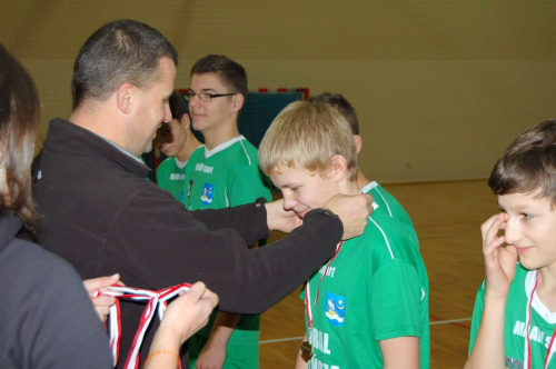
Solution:
{"label": "green jersey with white collar on boy at right edge", "polygon": [[[516,276],[509,287],[506,301],[506,317],[504,322],[504,355],[506,368],[526,368],[524,366],[525,342],[527,333],[527,309],[532,291],[536,282],[536,270],[527,270],[517,265]],[[477,332],[483,317],[485,301],[485,282],[480,285],[475,308],[473,309],[471,332],[469,338],[469,353],[477,338]],[[556,312],[550,312],[540,301],[536,292],[533,296],[530,323],[528,329],[530,342],[532,368],[544,368],[545,358],[553,333],[556,329]],[[553,345],[553,351],[556,345]],[[549,357],[548,368],[556,368],[554,353]]]}

